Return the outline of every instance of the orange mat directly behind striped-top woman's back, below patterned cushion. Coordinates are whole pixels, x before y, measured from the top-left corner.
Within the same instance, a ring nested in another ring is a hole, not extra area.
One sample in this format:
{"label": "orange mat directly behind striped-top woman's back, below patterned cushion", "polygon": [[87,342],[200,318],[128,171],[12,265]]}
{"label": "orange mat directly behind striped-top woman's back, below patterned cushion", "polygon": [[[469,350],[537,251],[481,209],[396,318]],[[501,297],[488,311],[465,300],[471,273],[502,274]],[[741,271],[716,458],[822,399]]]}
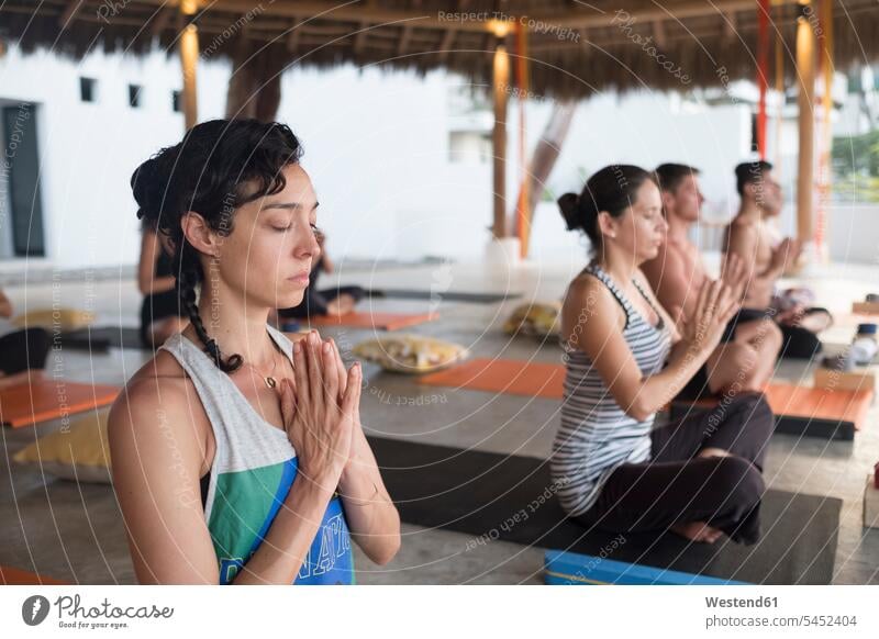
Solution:
{"label": "orange mat directly behind striped-top woman's back, below patterned cushion", "polygon": [[471,391],[561,399],[565,367],[516,359],[476,358],[419,378],[429,386],[454,386]]}

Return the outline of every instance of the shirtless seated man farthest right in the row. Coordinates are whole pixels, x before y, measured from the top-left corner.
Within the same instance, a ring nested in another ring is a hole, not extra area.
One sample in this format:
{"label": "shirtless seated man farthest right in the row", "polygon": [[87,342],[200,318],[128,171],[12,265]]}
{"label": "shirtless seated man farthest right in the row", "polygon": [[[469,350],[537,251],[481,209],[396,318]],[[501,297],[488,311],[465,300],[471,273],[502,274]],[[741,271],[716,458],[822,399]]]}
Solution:
{"label": "shirtless seated man farthest right in the row", "polygon": [[783,336],[782,357],[811,358],[821,350],[816,337],[832,322],[826,309],[810,307],[809,291],[790,289],[775,293],[776,281],[800,255],[800,243],[781,240],[770,224],[781,212],[781,184],[772,165],[764,160],[743,162],[735,168],[736,189],[742,197],[738,214],[726,228],[724,250],[738,256],[745,267],[745,296],[738,322],[772,317]]}

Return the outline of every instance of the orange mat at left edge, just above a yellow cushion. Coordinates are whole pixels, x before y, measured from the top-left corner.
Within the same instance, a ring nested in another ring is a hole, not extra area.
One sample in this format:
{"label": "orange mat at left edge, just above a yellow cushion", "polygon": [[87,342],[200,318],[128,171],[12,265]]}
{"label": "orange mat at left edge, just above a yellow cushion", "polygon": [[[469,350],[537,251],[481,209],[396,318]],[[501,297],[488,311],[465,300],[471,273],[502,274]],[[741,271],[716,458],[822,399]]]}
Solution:
{"label": "orange mat at left edge, just above a yellow cushion", "polygon": [[119,389],[66,380],[23,382],[0,391],[0,424],[20,428],[70,413],[107,406]]}

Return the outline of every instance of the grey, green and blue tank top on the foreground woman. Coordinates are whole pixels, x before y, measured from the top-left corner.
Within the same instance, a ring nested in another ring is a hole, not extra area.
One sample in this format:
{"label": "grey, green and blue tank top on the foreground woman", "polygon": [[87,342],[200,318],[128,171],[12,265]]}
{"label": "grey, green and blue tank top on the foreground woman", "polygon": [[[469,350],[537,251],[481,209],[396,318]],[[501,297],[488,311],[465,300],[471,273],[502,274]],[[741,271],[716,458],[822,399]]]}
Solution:
{"label": "grey, green and blue tank top on the foreground woman", "polygon": [[[292,362],[292,341],[275,327],[266,328]],[[263,419],[229,375],[182,333],[159,349],[170,352],[192,379],[216,440],[211,471],[202,480],[202,502],[220,584],[229,584],[259,548],[283,505],[297,475],[296,450],[287,433]],[[337,494],[294,583],[354,583],[351,534]]]}

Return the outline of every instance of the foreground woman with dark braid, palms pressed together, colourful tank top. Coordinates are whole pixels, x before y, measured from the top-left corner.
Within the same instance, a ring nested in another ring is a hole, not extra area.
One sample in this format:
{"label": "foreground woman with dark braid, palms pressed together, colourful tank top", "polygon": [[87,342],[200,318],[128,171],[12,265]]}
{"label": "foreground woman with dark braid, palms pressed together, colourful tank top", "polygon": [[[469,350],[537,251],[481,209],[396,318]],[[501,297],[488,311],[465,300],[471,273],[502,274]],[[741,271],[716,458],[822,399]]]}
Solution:
{"label": "foreground woman with dark braid, palms pressed together, colourful tank top", "polygon": [[318,201],[278,123],[214,120],[132,176],[189,325],[129,380],[108,429],[135,574],[160,584],[354,583],[400,519],[332,339],[267,323],[309,282]]}

